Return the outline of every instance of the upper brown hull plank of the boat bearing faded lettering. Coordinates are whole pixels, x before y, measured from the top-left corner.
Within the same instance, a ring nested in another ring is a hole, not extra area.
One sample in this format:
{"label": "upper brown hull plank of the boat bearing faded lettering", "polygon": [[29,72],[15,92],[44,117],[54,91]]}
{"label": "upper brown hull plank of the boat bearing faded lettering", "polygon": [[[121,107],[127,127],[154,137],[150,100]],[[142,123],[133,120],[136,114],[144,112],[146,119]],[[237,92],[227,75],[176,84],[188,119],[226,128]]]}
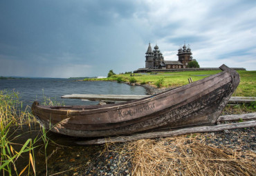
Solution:
{"label": "upper brown hull plank of the boat bearing faded lettering", "polygon": [[[230,82],[230,77],[228,74],[223,75],[223,80],[221,84],[227,84]],[[195,97],[198,99],[203,94],[204,90],[211,91],[210,88],[218,88],[220,84],[216,84],[219,81],[218,77],[211,79],[207,82],[206,86],[202,86],[205,84],[198,84],[196,86],[190,86],[189,89],[179,90],[174,93],[166,92],[161,97],[151,97],[149,99],[145,99],[143,102],[136,102],[134,104],[130,104],[127,106],[116,106],[113,108],[102,108],[102,110],[83,110],[83,111],[60,111],[60,110],[45,110],[42,108],[42,114],[46,114],[46,117],[51,117],[55,121],[62,121],[67,117],[71,117],[68,121],[69,124],[81,124],[81,121],[86,121],[86,124],[106,124],[106,123],[118,123],[120,121],[129,121],[131,119],[137,119],[140,117],[144,117],[146,115],[150,115],[155,111],[160,111],[170,106],[174,106],[175,104],[179,104],[182,101],[187,101],[190,97]],[[199,88],[201,88],[201,92],[199,92]],[[205,92],[208,93],[208,92]],[[198,97],[196,97],[198,96]],[[134,108],[136,107],[136,108]],[[40,110],[39,110],[40,111]],[[101,112],[100,112],[101,111]],[[39,112],[38,112],[39,113]],[[60,116],[63,114],[63,116]]]}

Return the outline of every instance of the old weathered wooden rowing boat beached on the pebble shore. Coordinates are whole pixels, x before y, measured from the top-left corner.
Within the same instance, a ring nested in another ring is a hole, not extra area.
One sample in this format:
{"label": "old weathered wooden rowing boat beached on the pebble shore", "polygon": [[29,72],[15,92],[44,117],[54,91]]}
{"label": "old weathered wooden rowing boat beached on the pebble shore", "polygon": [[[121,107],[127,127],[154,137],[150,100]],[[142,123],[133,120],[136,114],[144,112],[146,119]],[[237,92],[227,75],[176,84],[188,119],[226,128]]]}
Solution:
{"label": "old weathered wooden rowing boat beached on the pebble shore", "polygon": [[239,74],[222,72],[143,99],[95,106],[40,106],[32,112],[45,128],[75,137],[129,135],[155,128],[215,124],[239,85]]}

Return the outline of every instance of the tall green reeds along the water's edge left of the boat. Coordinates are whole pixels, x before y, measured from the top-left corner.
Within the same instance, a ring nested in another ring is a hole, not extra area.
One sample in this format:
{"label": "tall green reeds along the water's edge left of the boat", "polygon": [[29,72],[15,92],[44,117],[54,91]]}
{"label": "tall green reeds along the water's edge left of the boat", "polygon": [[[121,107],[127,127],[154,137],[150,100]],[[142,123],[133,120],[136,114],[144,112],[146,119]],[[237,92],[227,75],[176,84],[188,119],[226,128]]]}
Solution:
{"label": "tall green reeds along the water's edge left of the boat", "polygon": [[[59,104],[57,101],[52,101],[50,98],[44,96],[44,105]],[[24,110],[23,110],[24,109]],[[24,134],[17,135],[18,130],[22,130],[23,126],[28,129],[34,130],[36,119],[31,114],[30,107],[23,108],[22,101],[19,101],[19,94],[17,92],[10,92],[8,90],[0,91],[0,130],[1,130],[1,160],[0,160],[0,175],[30,175],[31,170],[36,175],[35,169],[35,154],[34,148],[43,145],[45,162],[46,162],[46,175],[47,175],[47,155],[46,148],[48,146],[47,130],[41,128],[35,139],[27,139],[23,144],[14,142]],[[39,144],[39,141],[42,141]],[[22,169],[17,169],[17,159],[19,157],[28,158],[28,163]]]}

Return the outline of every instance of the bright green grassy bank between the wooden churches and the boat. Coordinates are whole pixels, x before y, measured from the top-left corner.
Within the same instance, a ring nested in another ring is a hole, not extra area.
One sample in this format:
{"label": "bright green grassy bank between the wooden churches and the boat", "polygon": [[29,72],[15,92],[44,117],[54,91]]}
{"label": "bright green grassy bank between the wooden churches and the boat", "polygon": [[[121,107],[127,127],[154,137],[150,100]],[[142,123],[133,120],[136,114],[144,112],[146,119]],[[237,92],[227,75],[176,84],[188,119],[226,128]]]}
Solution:
{"label": "bright green grassy bank between the wooden churches and the boat", "polygon": [[[188,78],[198,81],[210,75],[214,75],[221,70],[208,71],[185,71],[185,72],[158,72],[158,73],[136,73],[131,77],[129,74],[113,75],[103,79],[84,79],[84,81],[118,81],[136,84],[150,84],[158,88],[175,88],[188,84]],[[238,70],[241,81],[234,96],[256,97],[256,71]]]}

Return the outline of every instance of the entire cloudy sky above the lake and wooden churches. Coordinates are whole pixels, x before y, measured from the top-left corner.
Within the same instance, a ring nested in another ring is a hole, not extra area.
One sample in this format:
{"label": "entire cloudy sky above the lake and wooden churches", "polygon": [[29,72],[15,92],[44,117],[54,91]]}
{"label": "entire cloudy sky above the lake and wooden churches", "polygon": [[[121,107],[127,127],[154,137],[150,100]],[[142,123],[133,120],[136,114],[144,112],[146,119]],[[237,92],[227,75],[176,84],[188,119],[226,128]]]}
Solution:
{"label": "entire cloudy sky above the lake and wooden churches", "polygon": [[201,68],[256,70],[255,0],[0,0],[0,76],[98,77],[145,67],[149,42]]}

